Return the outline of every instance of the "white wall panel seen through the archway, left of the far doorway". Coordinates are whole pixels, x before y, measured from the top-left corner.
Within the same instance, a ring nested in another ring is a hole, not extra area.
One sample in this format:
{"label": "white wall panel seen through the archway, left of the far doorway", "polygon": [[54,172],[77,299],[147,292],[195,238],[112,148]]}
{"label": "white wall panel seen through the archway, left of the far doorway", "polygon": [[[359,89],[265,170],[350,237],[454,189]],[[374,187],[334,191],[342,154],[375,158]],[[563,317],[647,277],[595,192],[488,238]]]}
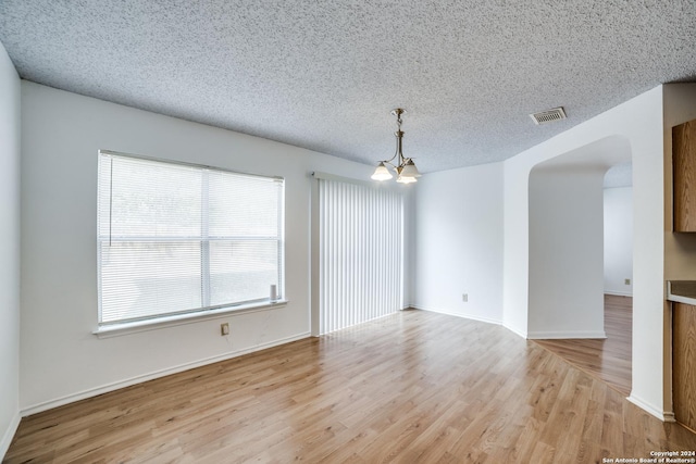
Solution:
{"label": "white wall panel seen through the archway, left of the far doorway", "polygon": [[545,164],[530,178],[527,338],[605,338],[606,168]]}

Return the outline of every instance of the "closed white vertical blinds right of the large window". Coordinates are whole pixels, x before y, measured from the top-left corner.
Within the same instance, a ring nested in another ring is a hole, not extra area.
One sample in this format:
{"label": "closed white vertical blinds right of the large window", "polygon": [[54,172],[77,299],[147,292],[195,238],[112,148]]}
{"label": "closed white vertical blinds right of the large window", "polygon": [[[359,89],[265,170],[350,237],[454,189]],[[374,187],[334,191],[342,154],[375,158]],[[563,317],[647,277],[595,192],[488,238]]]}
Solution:
{"label": "closed white vertical blinds right of the large window", "polygon": [[326,334],[402,306],[402,196],[319,179],[320,330]]}

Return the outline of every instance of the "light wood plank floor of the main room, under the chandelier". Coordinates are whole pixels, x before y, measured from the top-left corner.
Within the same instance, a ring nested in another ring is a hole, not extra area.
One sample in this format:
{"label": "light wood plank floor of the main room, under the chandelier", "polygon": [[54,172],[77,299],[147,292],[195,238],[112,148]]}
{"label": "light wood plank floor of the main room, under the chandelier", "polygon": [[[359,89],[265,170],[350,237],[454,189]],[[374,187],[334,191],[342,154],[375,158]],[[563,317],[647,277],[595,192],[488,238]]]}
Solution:
{"label": "light wood plank floor of the main room, under the chandelier", "polygon": [[8,463],[595,463],[696,450],[490,324],[403,311],[22,419]]}

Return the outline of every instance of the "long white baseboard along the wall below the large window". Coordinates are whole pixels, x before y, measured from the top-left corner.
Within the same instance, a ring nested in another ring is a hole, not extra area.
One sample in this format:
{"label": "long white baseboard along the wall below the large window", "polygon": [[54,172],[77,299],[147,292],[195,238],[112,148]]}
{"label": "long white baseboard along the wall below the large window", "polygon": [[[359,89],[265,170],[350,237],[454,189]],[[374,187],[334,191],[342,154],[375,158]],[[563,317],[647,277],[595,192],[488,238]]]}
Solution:
{"label": "long white baseboard along the wall below the large window", "polygon": [[238,358],[244,354],[253,353],[256,351],[265,350],[268,348],[277,347],[279,344],[289,343],[291,341],[302,340],[304,338],[309,338],[311,334],[303,333],[293,337],[281,338],[274,341],[269,341],[266,343],[257,344],[250,348],[245,348],[243,350],[232,351],[224,354],[206,358],[199,361],[194,361],[190,363],[179,364],[177,366],[169,367],[161,371],[156,371],[150,374],[144,374],[139,376],[135,376],[128,379],[114,381],[112,384],[107,384],[101,387],[90,388],[87,390],[79,391],[74,394],[67,394],[65,397],[57,398],[54,400],[45,401],[42,403],[29,405],[21,410],[22,417],[29,416],[32,414],[40,413],[44,411],[52,410],[53,407],[62,406],[65,404],[74,403],[76,401],[85,400],[87,398],[96,397],[98,394],[108,393],[110,391],[115,391],[125,387],[130,387],[132,385],[142,384],[144,381],[153,380],[156,378],[165,377],[167,375],[177,374],[184,371],[192,369],[196,367],[201,367],[208,364],[217,363],[220,361],[231,360],[233,358]]}

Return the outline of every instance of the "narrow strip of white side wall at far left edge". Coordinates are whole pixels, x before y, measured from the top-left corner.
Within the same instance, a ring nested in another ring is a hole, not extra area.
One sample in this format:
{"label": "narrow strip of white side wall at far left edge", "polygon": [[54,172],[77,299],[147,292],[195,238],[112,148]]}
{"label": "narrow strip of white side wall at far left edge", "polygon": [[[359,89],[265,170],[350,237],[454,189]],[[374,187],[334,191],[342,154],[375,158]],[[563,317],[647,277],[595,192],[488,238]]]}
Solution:
{"label": "narrow strip of white side wall at far left edge", "polygon": [[20,424],[20,93],[0,43],[0,460]]}

